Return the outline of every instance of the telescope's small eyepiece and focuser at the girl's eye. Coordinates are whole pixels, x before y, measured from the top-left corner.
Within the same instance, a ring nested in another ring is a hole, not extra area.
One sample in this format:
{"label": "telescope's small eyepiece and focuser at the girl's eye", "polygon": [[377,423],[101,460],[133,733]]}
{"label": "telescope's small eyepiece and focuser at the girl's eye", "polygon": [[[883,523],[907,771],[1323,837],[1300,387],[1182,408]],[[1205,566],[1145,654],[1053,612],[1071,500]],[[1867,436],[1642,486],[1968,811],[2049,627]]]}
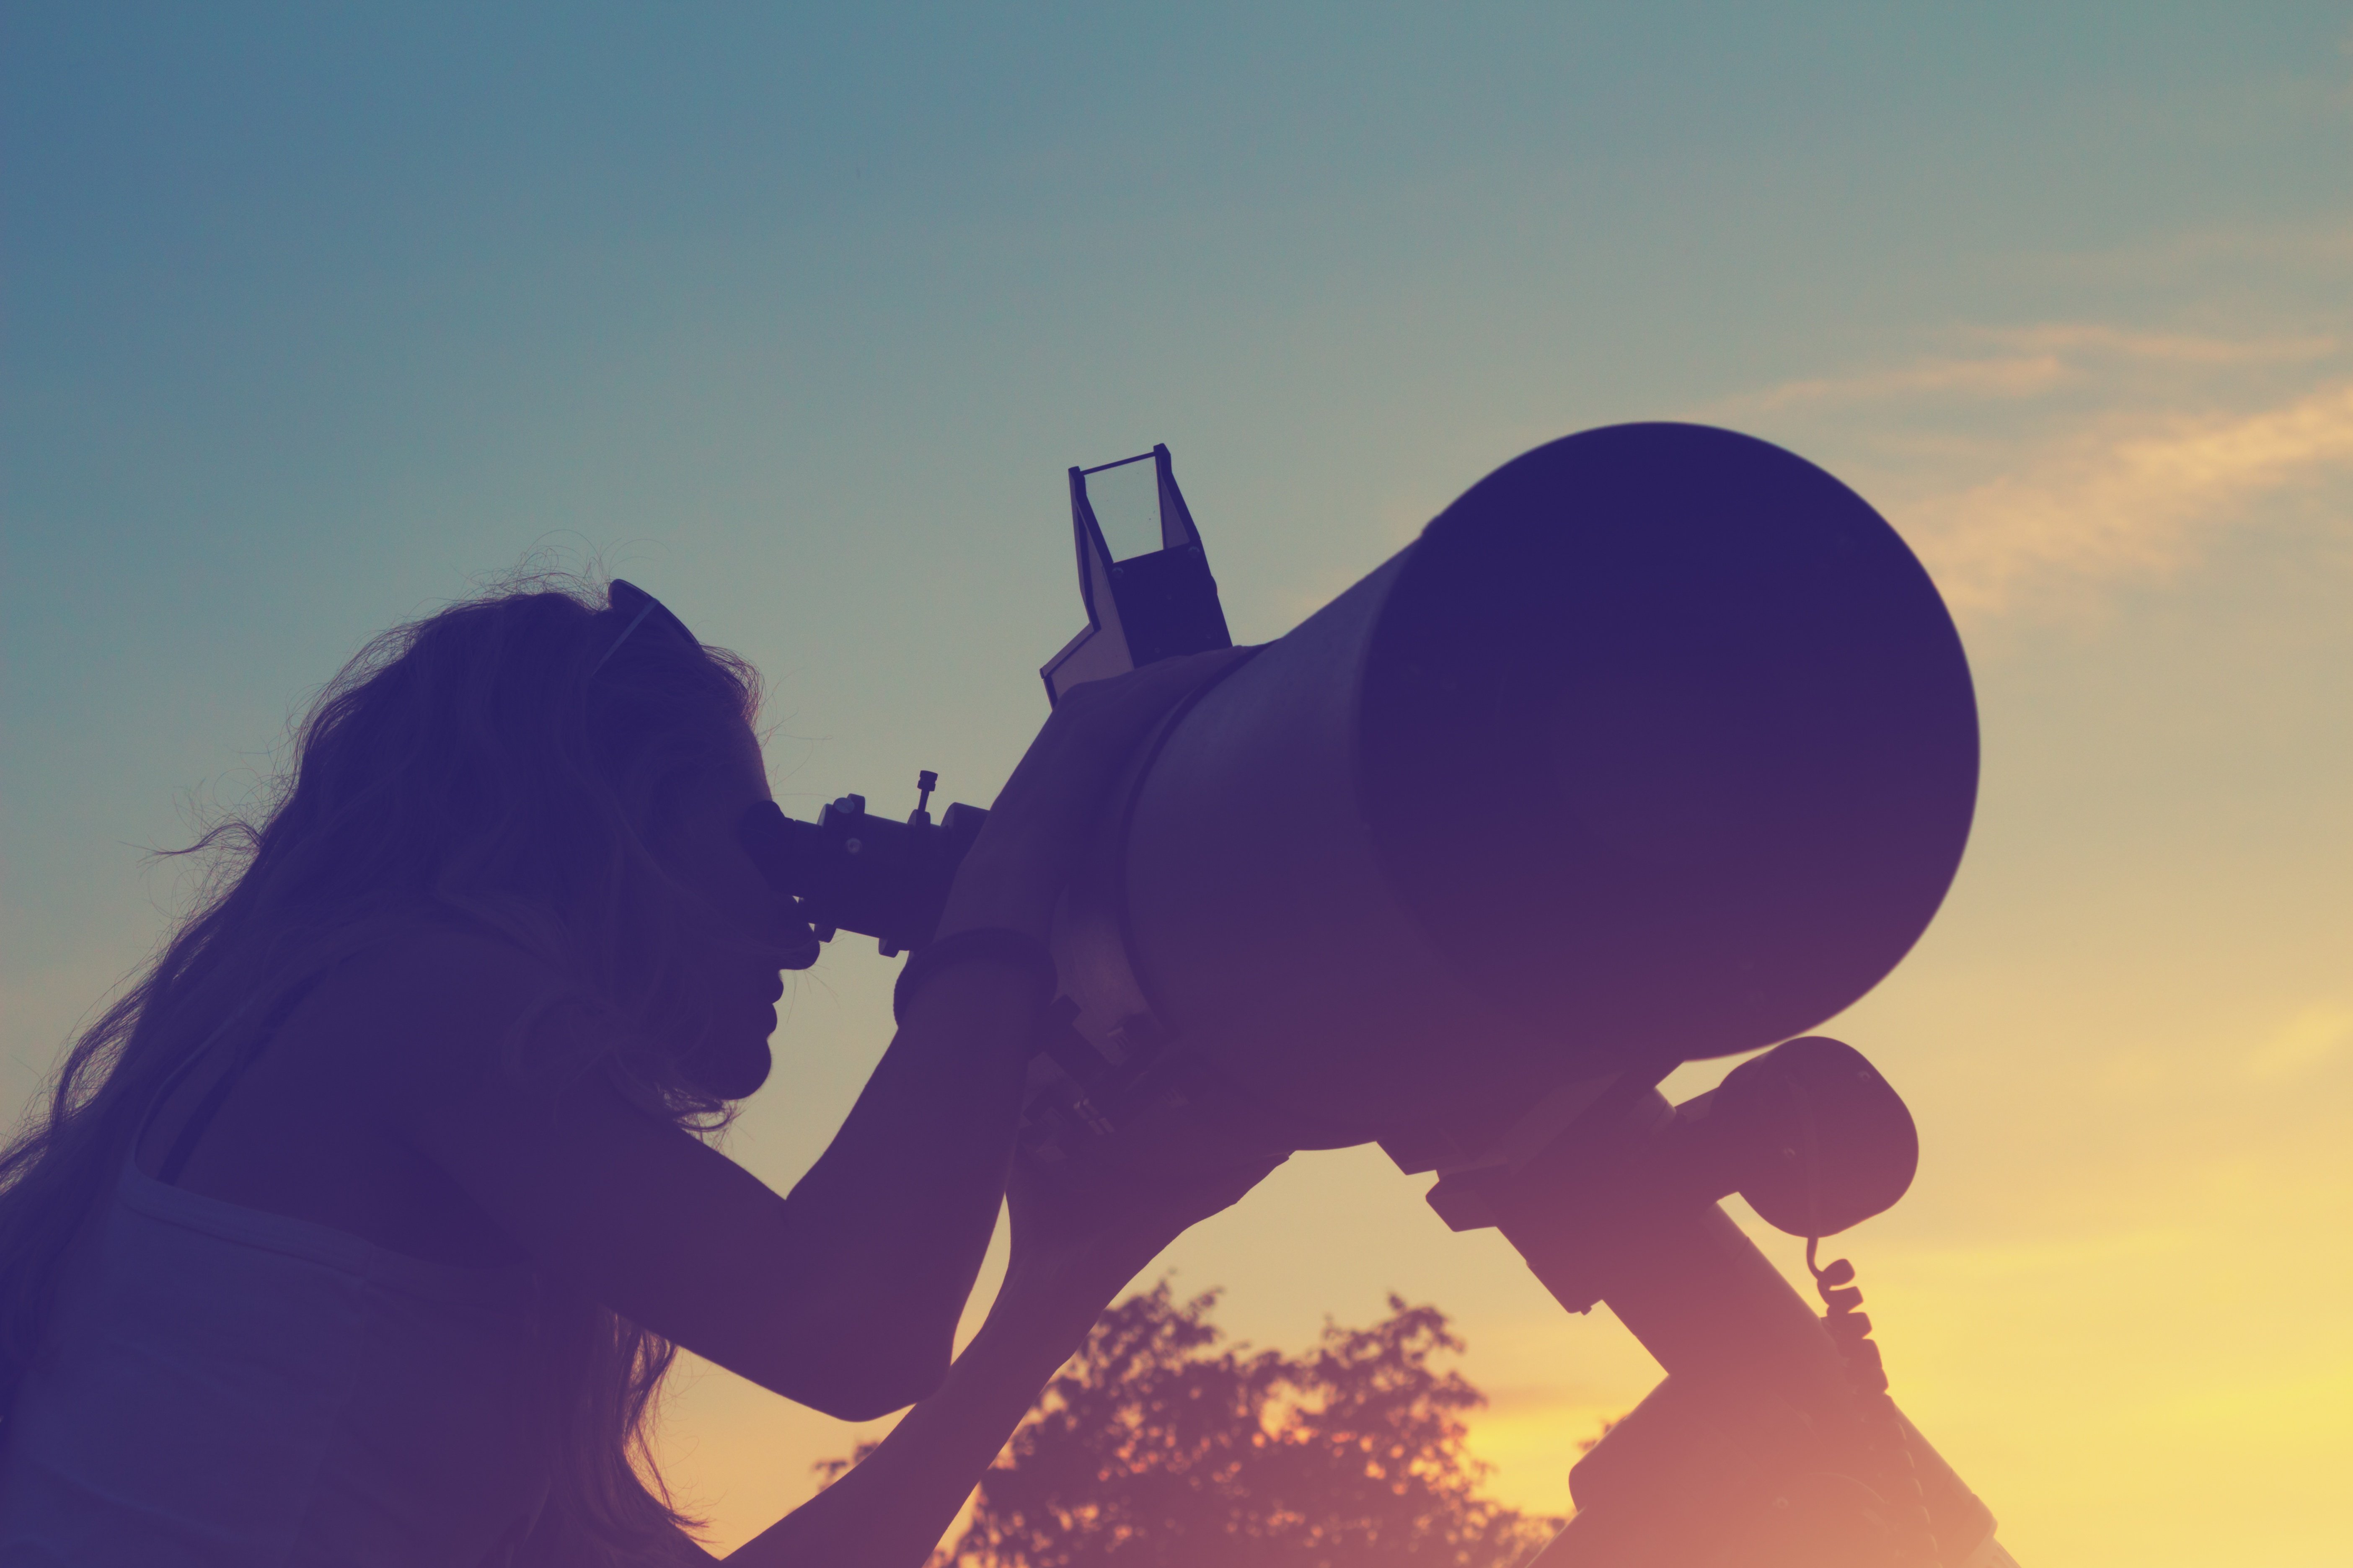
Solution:
{"label": "telescope's small eyepiece and focuser at the girl's eye", "polygon": [[744,813],[736,837],[760,875],[791,893],[800,912],[831,943],[840,931],[871,936],[882,957],[922,947],[939,929],[955,867],[981,837],[988,813],[962,802],[932,820],[939,773],[925,769],[906,820],[866,811],[864,795],[845,795],[802,823],[772,799]]}

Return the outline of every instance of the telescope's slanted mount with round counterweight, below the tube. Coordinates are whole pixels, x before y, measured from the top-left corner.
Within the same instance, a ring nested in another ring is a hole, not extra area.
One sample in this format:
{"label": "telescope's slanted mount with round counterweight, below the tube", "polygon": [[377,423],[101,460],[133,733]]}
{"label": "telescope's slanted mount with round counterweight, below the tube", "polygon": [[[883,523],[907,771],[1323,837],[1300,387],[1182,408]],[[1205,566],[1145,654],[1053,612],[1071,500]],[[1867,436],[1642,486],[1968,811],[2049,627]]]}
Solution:
{"label": "telescope's slanted mount with round counterweight, below the tube", "polygon": [[[1824,1321],[1718,1208],[1744,1192],[1777,1225],[1828,1234],[1892,1206],[1918,1159],[1904,1103],[1821,1037],[1682,1105],[1664,1077],[1539,1103],[1492,1159],[1428,1192],[1452,1229],[1499,1229],[1569,1312],[1609,1305],[1668,1373],[1579,1460],[1579,1512],[1539,1563],[2007,1563],[1986,1505],[1885,1392],[1859,1389]],[[1546,1121],[1558,1131],[1529,1152]]]}

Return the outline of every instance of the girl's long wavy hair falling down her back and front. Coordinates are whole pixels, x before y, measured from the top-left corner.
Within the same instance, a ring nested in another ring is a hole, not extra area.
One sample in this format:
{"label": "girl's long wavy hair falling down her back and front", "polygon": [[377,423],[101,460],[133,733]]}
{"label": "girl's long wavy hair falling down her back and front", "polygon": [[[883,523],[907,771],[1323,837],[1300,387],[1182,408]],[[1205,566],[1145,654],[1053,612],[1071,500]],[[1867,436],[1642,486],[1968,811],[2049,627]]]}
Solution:
{"label": "girl's long wavy hair falling down her back and front", "polygon": [[[289,987],[424,922],[487,929],[567,980],[600,1056],[541,1060],[518,1025],[520,1081],[607,1072],[689,1128],[725,1121],[696,1084],[708,1018],[682,964],[692,896],[659,856],[675,792],[758,712],[758,675],[628,618],[567,576],[527,576],[372,639],[294,733],[261,809],[212,825],[195,907],[73,1044],[0,1150],[0,1422],[40,1354],[64,1258],[176,1067],[249,1037]],[[619,644],[616,644],[619,639]],[[567,1032],[572,1037],[574,1032]],[[518,1561],[699,1559],[645,1450],[673,1347],[555,1298],[548,1502]]]}

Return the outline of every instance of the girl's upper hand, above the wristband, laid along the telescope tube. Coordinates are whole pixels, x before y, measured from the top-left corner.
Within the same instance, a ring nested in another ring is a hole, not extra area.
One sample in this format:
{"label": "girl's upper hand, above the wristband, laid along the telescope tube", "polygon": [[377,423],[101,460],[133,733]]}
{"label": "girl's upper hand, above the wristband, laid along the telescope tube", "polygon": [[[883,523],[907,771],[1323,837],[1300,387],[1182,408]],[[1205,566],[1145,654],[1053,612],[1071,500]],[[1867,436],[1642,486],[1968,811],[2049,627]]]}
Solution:
{"label": "girl's upper hand, above the wristband, laid along the telescope tube", "polygon": [[965,856],[939,936],[1009,926],[1045,940],[1054,900],[1094,839],[1111,785],[1169,708],[1249,649],[1162,658],[1061,693]]}

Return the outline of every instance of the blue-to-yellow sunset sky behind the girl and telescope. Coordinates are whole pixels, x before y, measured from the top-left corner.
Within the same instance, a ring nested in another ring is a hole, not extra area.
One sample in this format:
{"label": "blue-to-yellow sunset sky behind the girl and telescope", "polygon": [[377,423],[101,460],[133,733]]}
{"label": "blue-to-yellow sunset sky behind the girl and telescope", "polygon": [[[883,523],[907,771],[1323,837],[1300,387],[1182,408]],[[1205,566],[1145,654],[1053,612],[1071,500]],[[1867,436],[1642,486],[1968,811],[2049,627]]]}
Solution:
{"label": "blue-to-yellow sunset sky behind the girl and telescope", "polygon": [[[1247,642],[1527,447],[1722,423],[1897,524],[1979,684],[1953,893],[1826,1025],[1922,1133],[1838,1241],[1897,1399],[2028,1568],[2353,1563],[2353,7],[0,28],[9,1105],[184,907],[141,851],[518,564],[753,658],[788,811],[979,804],[1080,625],[1068,465],[1167,442]],[[889,973],[791,992],[769,1182]],[[1426,1185],[1299,1157],[1158,1269],[1287,1349],[1440,1305],[1562,1512],[1657,1368]],[[661,1450],[732,1544],[875,1429],[687,1368]]]}

